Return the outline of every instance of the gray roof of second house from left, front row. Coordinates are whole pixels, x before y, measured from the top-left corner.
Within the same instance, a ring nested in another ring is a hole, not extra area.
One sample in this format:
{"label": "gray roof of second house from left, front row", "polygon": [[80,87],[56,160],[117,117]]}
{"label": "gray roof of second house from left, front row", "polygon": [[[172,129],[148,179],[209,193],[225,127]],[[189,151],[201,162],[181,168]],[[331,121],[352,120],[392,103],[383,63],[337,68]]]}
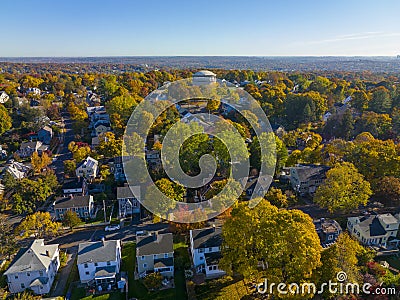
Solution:
{"label": "gray roof of second house from left, front row", "polygon": [[79,244],[77,264],[116,261],[119,243],[119,240],[109,240]]}

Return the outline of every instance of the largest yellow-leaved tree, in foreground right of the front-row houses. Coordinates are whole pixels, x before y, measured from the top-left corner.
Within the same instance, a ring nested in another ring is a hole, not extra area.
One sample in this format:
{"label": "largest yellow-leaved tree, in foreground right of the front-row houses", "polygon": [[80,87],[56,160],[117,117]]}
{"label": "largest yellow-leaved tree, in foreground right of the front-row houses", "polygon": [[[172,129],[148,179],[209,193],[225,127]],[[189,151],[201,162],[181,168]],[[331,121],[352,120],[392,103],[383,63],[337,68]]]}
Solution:
{"label": "largest yellow-leaved tree, in foreground right of the front-row houses", "polygon": [[[255,209],[239,203],[231,215],[222,227],[220,261],[228,274],[253,282],[303,282],[320,266],[322,247],[307,214],[263,200]],[[312,294],[298,298],[304,297]]]}

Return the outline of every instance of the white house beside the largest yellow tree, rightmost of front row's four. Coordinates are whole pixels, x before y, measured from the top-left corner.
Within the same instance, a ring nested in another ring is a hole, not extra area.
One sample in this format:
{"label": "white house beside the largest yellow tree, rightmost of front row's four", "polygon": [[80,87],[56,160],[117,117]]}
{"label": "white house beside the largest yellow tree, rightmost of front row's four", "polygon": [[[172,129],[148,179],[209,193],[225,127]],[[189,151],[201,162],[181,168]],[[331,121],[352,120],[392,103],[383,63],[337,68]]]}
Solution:
{"label": "white house beside the largest yellow tree, rightmost of front row's four", "polygon": [[218,268],[221,258],[221,227],[190,230],[190,252],[197,272],[203,272],[207,278],[225,275]]}

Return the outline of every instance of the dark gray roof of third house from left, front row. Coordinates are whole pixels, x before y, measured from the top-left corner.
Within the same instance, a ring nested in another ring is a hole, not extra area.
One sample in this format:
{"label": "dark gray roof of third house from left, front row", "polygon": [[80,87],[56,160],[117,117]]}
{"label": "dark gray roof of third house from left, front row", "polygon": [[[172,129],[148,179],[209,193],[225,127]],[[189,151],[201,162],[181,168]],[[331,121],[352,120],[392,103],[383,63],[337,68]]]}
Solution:
{"label": "dark gray roof of third house from left, front row", "polygon": [[136,255],[153,255],[174,252],[172,233],[154,233],[136,237]]}

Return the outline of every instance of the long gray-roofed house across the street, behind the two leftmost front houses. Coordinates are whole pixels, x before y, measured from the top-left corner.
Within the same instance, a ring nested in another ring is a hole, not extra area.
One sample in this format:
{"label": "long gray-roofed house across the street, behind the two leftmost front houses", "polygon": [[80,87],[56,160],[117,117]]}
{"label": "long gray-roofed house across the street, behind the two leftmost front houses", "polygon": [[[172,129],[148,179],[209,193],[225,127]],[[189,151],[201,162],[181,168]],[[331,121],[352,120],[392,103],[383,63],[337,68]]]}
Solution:
{"label": "long gray-roofed house across the street, behind the two leftmost front houses", "polygon": [[94,217],[93,196],[73,196],[60,198],[54,203],[54,212],[57,220],[62,220],[67,211],[74,211],[81,219]]}

